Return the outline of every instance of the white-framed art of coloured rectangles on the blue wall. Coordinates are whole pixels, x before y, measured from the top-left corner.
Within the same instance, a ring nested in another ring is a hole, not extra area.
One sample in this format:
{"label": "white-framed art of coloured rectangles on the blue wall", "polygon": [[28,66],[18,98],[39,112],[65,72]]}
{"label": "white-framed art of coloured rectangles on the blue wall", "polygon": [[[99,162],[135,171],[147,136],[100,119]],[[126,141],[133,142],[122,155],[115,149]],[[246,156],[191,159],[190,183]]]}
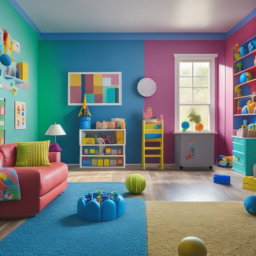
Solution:
{"label": "white-framed art of coloured rectangles on the blue wall", "polygon": [[68,72],[68,105],[122,105],[122,72]]}

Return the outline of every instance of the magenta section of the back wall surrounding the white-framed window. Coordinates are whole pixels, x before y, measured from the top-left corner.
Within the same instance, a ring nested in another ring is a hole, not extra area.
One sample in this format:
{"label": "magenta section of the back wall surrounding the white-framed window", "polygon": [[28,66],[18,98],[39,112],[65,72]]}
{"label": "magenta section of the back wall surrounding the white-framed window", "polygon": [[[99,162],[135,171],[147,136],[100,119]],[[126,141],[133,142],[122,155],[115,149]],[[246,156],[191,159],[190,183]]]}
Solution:
{"label": "magenta section of the back wall surrounding the white-framed window", "polygon": [[[174,163],[174,57],[173,54],[218,54],[216,61],[215,159],[225,154],[225,41],[152,40],[144,42],[144,76],[156,82],[156,92],[145,97],[144,108],[164,117],[164,164]],[[231,94],[232,95],[232,94]],[[220,113],[220,114],[219,114]]]}

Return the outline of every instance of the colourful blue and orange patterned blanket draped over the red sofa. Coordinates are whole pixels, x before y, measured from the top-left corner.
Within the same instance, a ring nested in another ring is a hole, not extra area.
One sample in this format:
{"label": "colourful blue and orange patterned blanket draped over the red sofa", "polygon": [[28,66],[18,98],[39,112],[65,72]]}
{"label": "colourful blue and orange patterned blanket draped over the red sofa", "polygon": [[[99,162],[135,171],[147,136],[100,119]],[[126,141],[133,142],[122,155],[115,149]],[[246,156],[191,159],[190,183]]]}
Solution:
{"label": "colourful blue and orange patterned blanket draped over the red sofa", "polygon": [[0,168],[0,201],[20,200],[18,175],[12,168]]}

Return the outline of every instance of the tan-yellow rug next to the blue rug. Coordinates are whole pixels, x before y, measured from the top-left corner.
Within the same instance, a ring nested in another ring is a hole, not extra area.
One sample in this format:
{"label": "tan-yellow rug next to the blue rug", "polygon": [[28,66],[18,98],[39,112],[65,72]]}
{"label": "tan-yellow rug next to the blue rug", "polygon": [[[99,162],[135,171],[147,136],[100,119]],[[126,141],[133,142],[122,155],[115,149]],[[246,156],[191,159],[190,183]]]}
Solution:
{"label": "tan-yellow rug next to the blue rug", "polygon": [[207,256],[256,255],[256,216],[243,202],[146,201],[148,256],[178,256],[179,242],[200,238]]}

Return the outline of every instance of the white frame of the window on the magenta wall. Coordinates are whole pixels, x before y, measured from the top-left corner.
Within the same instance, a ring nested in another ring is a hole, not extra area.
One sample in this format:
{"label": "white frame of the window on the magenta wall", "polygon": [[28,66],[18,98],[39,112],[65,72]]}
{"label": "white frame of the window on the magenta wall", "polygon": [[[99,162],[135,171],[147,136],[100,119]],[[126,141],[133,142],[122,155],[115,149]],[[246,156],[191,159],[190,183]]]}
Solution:
{"label": "white frame of the window on the magenta wall", "polygon": [[[187,60],[188,62],[199,62],[200,60],[209,60],[210,71],[209,71],[209,81],[210,81],[210,91],[209,91],[209,132],[215,132],[215,58],[218,54],[173,54],[174,63],[174,131],[180,132],[180,60]],[[186,121],[186,120],[184,120]],[[205,130],[204,130],[205,131]]]}

